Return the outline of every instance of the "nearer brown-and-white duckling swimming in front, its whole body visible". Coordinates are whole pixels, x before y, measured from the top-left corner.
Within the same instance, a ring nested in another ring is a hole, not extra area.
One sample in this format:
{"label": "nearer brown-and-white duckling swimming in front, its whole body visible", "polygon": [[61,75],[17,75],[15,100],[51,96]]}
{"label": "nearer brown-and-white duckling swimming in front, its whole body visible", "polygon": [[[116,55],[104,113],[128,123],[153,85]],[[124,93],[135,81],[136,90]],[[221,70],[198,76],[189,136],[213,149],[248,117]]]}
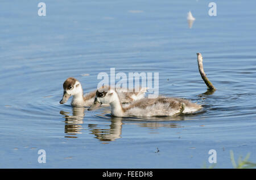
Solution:
{"label": "nearer brown-and-white duckling swimming in front, its whole body visible", "polygon": [[110,104],[111,114],[114,117],[156,117],[171,116],[179,113],[192,113],[202,109],[201,105],[191,101],[174,97],[142,98],[133,101],[123,107],[118,93],[111,88],[102,87],[96,92],[92,106],[88,110],[94,110],[101,104]]}

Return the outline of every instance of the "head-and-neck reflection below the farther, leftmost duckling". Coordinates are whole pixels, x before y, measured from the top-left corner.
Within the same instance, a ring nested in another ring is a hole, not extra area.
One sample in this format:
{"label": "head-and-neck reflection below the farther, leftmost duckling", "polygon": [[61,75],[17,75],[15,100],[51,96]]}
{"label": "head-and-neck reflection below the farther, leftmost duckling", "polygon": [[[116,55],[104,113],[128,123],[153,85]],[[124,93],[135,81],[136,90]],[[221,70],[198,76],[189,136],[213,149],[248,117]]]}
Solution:
{"label": "head-and-neck reflection below the farther, leftmost duckling", "polygon": [[68,112],[60,111],[60,114],[65,116],[65,130],[64,132],[69,136],[65,136],[65,138],[77,138],[77,134],[81,134],[82,123],[85,115],[84,107],[73,107],[72,109],[73,115],[68,115]]}

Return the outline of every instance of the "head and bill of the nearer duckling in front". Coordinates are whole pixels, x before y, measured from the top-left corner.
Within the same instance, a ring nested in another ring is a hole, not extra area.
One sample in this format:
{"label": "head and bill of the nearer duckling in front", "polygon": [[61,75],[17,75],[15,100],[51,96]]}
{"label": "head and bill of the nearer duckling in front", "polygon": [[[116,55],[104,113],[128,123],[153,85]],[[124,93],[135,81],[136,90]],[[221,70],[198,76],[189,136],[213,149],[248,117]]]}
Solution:
{"label": "head and bill of the nearer duckling in front", "polygon": [[112,104],[115,101],[119,101],[117,92],[109,87],[101,87],[100,89],[97,89],[94,102],[88,110],[94,110],[101,104]]}

